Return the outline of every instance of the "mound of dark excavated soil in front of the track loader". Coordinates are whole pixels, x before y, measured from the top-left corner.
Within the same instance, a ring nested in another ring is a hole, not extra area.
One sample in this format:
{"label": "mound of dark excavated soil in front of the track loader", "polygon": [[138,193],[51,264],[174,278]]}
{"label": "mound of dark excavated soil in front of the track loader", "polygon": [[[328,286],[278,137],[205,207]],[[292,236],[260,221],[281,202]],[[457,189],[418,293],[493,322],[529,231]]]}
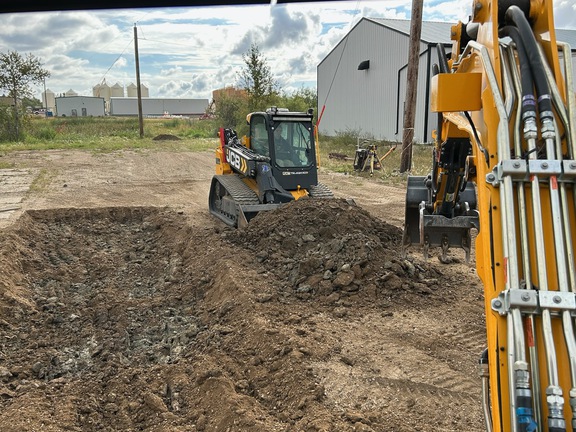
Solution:
{"label": "mound of dark excavated soil in front of the track loader", "polygon": [[344,199],[290,202],[228,238],[276,276],[279,291],[300,298],[402,301],[438,289],[435,270],[400,256],[399,228]]}

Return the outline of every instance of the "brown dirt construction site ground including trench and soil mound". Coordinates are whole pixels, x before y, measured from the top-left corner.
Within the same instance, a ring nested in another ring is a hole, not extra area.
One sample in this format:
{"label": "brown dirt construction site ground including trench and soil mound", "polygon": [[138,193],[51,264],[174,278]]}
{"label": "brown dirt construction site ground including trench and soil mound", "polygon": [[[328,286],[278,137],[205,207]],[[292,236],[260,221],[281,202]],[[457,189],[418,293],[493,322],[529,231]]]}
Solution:
{"label": "brown dirt construction site ground including trench and soil mound", "polygon": [[403,187],[235,230],[212,152],[0,162],[1,431],[484,430],[474,254],[404,259]]}

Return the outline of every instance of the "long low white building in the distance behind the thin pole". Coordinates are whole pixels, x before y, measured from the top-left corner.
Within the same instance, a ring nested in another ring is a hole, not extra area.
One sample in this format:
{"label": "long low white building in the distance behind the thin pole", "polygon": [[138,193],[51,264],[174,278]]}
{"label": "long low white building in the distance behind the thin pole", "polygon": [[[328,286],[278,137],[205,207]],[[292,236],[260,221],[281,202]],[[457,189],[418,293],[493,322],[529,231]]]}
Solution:
{"label": "long low white building in the distance behind the thin pole", "polygon": [[[208,108],[208,99],[143,98],[142,113],[146,116],[201,116]],[[138,98],[110,98],[110,115],[138,115]]]}

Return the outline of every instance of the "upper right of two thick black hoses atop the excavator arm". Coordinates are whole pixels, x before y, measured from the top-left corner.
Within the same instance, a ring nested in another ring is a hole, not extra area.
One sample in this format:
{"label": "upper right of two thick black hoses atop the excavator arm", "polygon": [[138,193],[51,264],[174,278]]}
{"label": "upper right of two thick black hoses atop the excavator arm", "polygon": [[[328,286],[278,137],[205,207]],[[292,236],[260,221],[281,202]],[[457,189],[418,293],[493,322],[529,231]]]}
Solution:
{"label": "upper right of two thick black hoses atop the excavator arm", "polygon": [[524,12],[518,6],[510,6],[506,11],[506,21],[512,22],[518,28],[520,38],[522,39],[525,47],[525,52],[528,57],[528,62],[534,77],[534,84],[536,86],[536,94],[538,95],[538,110],[540,113],[540,121],[544,119],[552,119],[552,97],[550,95],[550,86],[546,79],[546,70],[540,57],[538,50],[538,43],[530,27],[530,23],[526,19]]}

